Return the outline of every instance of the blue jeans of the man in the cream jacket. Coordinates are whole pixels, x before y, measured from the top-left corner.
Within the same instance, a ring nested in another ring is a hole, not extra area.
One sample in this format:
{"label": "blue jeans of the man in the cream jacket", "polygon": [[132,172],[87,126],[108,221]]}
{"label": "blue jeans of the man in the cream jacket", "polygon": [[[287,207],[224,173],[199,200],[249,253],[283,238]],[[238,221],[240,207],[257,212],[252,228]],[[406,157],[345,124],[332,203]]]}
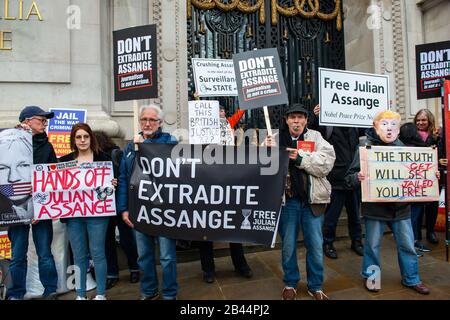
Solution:
{"label": "blue jeans of the man in the cream jacket", "polygon": [[284,271],[283,281],[287,287],[297,287],[300,272],[297,263],[297,239],[300,229],[303,231],[306,247],[306,278],[310,291],[322,289],[323,252],[322,252],[323,215],[316,217],[307,203],[299,199],[288,199],[281,210],[279,233],[282,242],[281,259]]}

